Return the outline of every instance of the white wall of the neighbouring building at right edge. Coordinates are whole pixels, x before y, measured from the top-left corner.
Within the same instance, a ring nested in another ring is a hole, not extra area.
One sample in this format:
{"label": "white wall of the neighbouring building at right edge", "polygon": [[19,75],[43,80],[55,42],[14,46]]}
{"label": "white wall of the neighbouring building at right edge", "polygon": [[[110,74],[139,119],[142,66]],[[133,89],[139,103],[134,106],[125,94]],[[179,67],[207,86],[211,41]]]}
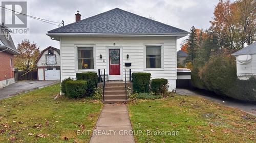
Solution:
{"label": "white wall of the neighbouring building at right edge", "polygon": [[240,79],[248,79],[250,76],[256,76],[256,54],[251,54],[252,61],[249,64],[242,64],[237,60],[237,75]]}

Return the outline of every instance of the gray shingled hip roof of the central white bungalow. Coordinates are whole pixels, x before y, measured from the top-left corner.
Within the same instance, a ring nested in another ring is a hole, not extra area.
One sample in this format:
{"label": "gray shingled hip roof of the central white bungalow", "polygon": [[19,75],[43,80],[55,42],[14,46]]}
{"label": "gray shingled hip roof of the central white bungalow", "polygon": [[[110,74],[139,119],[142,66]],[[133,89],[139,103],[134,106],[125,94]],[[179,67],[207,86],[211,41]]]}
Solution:
{"label": "gray shingled hip roof of the central white bungalow", "polygon": [[115,8],[48,33],[188,34],[179,28]]}

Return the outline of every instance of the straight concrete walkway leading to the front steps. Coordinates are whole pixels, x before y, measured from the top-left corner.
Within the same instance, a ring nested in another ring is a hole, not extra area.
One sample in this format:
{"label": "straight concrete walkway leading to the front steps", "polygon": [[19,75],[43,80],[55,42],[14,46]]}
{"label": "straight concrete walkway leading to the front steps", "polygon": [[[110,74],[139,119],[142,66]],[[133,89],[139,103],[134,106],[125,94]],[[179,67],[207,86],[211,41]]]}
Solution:
{"label": "straight concrete walkway leading to the front steps", "polygon": [[105,104],[91,137],[91,143],[132,143],[132,126],[125,104]]}

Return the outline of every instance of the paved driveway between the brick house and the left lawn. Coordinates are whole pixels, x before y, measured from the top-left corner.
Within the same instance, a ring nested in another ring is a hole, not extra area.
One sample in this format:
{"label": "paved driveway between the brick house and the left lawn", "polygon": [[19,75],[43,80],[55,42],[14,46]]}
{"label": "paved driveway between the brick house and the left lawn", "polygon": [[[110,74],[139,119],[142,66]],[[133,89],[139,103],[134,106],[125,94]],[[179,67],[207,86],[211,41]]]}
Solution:
{"label": "paved driveway between the brick house and the left lawn", "polygon": [[0,89],[0,100],[8,98],[19,93],[29,92],[35,89],[47,87],[58,83],[59,80],[44,80],[44,81],[19,81],[7,87]]}

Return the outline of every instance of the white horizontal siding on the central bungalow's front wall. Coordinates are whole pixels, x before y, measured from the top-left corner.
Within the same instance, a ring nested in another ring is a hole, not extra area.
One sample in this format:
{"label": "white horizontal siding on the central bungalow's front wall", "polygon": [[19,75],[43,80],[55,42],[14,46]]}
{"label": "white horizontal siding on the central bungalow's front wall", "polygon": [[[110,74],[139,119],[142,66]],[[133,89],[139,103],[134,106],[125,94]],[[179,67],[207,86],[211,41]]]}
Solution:
{"label": "white horizontal siding on the central bungalow's front wall", "polygon": [[[100,38],[100,37],[61,37],[60,54],[61,54],[61,80],[76,77],[76,45],[95,45],[96,47],[96,69],[107,69],[106,47],[115,46],[122,48],[122,65],[123,73],[124,63],[132,63],[132,72],[150,72],[152,78],[166,78],[170,83],[170,90],[176,89],[176,37],[136,37],[136,38]],[[161,44],[163,45],[163,69],[146,70],[144,69],[144,45]],[[100,60],[99,55],[102,55]],[[129,54],[129,60],[126,55]],[[95,59],[95,58],[94,58]],[[104,62],[103,62],[104,61]],[[124,77],[124,76],[123,76]]]}

